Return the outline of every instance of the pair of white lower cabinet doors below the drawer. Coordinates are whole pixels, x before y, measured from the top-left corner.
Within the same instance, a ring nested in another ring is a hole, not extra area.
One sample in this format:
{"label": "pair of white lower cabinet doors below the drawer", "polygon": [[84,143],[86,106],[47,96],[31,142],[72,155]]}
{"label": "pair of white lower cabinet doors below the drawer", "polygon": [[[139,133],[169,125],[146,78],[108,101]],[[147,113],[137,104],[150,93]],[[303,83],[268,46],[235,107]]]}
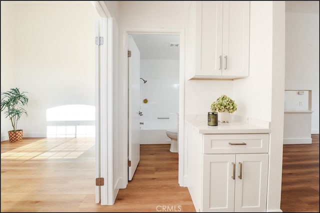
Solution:
{"label": "pair of white lower cabinet doors below the drawer", "polygon": [[263,212],[268,154],[204,154],[202,211]]}

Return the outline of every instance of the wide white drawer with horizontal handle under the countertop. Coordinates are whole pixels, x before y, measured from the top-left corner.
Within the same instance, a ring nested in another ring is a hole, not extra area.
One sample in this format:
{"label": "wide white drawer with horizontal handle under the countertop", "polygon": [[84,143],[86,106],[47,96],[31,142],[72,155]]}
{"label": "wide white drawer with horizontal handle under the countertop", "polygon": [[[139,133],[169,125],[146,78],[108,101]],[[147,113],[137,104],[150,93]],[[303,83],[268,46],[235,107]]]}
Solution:
{"label": "wide white drawer with horizontal handle under the countertop", "polygon": [[203,134],[203,153],[267,153],[269,134]]}

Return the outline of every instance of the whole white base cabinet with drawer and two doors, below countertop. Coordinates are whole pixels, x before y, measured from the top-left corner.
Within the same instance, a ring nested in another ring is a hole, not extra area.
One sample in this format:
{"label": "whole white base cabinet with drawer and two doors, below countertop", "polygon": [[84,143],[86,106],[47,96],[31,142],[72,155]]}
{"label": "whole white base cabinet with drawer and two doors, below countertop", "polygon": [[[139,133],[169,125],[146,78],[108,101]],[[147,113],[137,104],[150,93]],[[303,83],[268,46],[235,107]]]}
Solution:
{"label": "whole white base cabinet with drawer and two doors, below countertop", "polygon": [[200,212],[265,212],[269,133],[199,133],[187,128],[188,189]]}

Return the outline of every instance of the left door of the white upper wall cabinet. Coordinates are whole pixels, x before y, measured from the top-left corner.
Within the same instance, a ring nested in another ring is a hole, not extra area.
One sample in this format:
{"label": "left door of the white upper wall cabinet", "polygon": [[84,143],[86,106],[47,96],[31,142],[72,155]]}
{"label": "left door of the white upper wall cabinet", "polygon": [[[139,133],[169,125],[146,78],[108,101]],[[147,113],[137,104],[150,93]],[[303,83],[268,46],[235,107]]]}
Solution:
{"label": "left door of the white upper wall cabinet", "polygon": [[195,2],[195,74],[221,76],[222,1]]}

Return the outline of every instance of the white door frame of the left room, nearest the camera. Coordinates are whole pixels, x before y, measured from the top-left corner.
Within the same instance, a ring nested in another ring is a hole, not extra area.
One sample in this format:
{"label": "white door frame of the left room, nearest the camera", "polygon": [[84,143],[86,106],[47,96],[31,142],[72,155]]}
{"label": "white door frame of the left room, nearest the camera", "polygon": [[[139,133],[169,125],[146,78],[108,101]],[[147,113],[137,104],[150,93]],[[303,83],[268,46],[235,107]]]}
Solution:
{"label": "white door frame of the left room, nearest the camera", "polygon": [[[95,36],[103,37],[103,44],[95,49],[95,177],[104,184],[95,186],[95,202],[111,205],[113,193],[113,126],[112,126],[112,18],[103,1],[91,1],[100,18]],[[94,39],[94,38],[92,38]],[[102,131],[101,129],[107,129]]]}

